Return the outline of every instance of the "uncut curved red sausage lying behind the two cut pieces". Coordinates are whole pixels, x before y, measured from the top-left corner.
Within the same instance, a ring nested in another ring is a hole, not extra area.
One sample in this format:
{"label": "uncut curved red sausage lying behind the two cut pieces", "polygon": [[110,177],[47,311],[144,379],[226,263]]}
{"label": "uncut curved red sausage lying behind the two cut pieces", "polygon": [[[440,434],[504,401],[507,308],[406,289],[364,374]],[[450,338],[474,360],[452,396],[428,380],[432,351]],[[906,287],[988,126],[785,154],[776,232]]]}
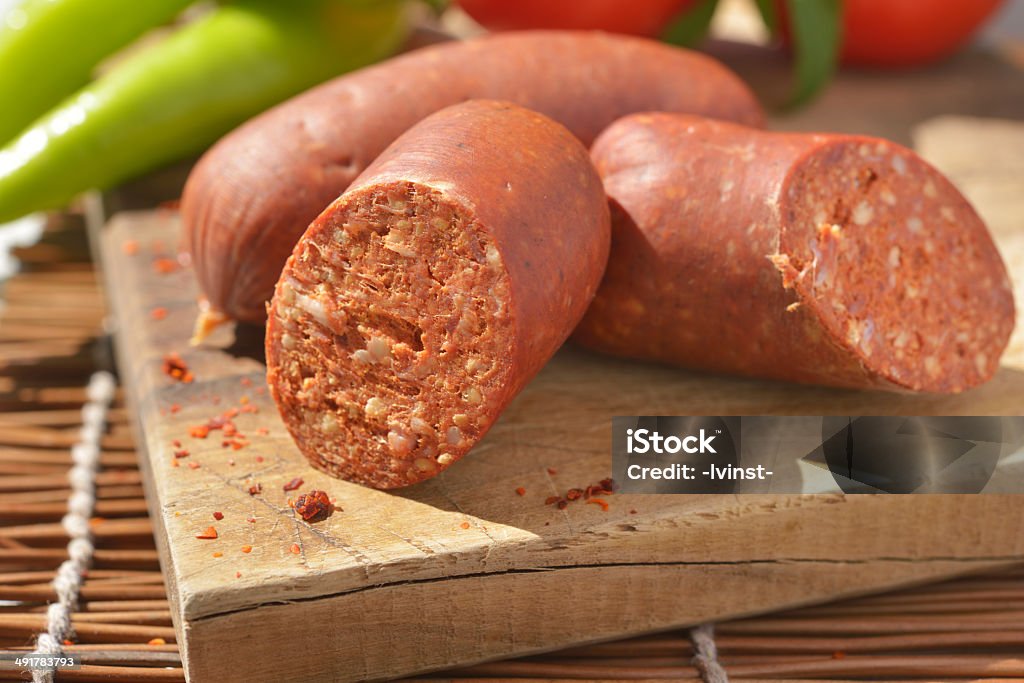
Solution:
{"label": "uncut curved red sausage lying behind the two cut pieces", "polygon": [[762,125],[750,90],[715,59],[640,38],[522,32],[424,48],[314,88],[230,133],[181,203],[185,249],[214,311],[262,322],[309,222],[398,135],[470,98],[514,101],[584,144],[634,112]]}

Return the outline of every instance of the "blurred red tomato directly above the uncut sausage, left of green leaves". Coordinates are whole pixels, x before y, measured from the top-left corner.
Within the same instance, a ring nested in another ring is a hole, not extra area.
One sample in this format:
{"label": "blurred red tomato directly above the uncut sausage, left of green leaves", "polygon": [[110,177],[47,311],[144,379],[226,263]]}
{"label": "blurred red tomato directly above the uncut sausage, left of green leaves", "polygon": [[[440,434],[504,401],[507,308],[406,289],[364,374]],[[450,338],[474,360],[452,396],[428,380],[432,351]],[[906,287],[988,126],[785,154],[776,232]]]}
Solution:
{"label": "blurred red tomato directly above the uncut sausage, left of green leaves", "polygon": [[579,29],[656,36],[696,0],[458,0],[490,31]]}

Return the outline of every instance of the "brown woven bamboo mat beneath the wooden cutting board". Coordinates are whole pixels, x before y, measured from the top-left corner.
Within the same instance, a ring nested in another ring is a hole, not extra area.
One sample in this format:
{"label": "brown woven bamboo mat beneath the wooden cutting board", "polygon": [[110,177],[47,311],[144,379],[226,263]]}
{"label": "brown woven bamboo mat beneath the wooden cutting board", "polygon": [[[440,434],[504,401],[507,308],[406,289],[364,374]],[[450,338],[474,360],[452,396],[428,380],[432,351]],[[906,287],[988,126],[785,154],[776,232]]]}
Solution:
{"label": "brown woven bamboo mat beneath the wooden cutting board", "polygon": [[[86,386],[111,369],[104,303],[81,221],[54,218],[23,250],[0,311],[0,648],[31,650],[47,629],[67,559],[61,520]],[[182,681],[180,658],[120,393],[101,437],[95,553],[65,650],[84,666],[58,681]],[[515,609],[515,605],[509,605]],[[566,620],[601,618],[595,604]],[[717,625],[695,651],[669,633],[479,665],[460,680],[1020,680],[1024,563],[1014,570]],[[702,654],[703,658],[696,654]],[[29,678],[0,670],[0,679]]]}

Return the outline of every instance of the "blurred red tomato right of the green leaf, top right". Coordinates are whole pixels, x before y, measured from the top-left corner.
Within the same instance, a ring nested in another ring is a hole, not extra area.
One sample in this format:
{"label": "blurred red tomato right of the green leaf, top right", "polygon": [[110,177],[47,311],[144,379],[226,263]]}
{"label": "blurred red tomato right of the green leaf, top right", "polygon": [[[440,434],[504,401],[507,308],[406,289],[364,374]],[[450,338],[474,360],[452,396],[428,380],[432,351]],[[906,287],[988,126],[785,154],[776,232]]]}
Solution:
{"label": "blurred red tomato right of the green leaf, top right", "polygon": [[1002,0],[846,0],[844,63],[913,67],[963,47]]}

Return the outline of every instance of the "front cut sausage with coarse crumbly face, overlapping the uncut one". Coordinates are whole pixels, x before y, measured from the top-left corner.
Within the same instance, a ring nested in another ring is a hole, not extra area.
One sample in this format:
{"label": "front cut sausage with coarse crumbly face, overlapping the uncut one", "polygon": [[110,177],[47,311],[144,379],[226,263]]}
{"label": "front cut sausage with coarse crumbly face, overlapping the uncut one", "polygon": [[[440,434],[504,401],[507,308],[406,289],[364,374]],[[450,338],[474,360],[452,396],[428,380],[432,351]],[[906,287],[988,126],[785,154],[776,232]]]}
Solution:
{"label": "front cut sausage with coarse crumbly face, overlapping the uncut one", "polygon": [[551,119],[472,100],[414,126],[278,283],[267,381],[299,449],[380,488],[449,467],[583,316],[609,241],[587,150]]}

